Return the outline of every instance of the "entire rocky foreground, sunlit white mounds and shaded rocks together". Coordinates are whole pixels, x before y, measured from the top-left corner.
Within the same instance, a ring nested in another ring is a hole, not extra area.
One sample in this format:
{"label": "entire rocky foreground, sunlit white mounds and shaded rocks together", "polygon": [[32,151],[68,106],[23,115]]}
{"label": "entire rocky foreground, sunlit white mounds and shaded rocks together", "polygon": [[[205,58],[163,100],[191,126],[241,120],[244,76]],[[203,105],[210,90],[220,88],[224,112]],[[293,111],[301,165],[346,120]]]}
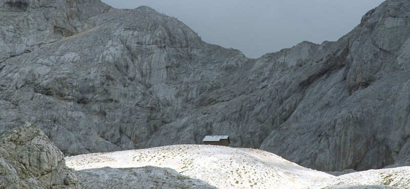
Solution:
{"label": "entire rocky foreground, sunlit white mounds and shaded rocks together", "polygon": [[0,188],[11,189],[410,188],[410,167],[335,177],[257,149],[174,145],[64,158],[30,123],[0,136],[0,152]]}

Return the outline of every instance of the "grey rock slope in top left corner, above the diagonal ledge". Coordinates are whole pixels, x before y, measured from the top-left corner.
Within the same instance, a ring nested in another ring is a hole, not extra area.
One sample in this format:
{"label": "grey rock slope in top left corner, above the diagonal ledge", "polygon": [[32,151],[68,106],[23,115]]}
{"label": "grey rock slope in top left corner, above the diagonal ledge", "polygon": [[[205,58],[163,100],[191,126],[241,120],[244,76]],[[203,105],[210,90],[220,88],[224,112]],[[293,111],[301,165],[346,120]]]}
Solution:
{"label": "grey rock slope in top left corner, above the diagonal ledge", "polygon": [[0,62],[30,53],[93,26],[84,20],[111,9],[100,1],[5,0],[0,2]]}

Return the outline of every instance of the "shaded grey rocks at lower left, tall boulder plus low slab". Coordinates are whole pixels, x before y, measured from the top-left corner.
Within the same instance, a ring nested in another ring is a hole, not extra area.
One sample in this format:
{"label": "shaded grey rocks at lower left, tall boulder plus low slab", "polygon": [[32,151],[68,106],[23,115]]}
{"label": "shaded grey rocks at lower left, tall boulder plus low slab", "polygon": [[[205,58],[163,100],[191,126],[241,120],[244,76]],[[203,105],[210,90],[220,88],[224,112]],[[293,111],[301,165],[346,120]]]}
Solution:
{"label": "shaded grey rocks at lower left, tall boulder plus low slab", "polygon": [[0,188],[198,188],[215,189],[206,182],[172,169],[144,167],[74,171],[63,153],[31,123],[0,136]]}

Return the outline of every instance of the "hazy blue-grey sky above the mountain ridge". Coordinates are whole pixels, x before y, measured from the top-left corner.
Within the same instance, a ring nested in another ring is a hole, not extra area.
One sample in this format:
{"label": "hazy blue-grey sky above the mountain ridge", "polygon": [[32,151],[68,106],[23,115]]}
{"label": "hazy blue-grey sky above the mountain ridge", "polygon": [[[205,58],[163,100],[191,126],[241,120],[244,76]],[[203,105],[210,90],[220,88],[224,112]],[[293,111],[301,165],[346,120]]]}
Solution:
{"label": "hazy blue-grey sky above the mountain ridge", "polygon": [[177,17],[202,40],[259,58],[302,41],[336,41],[384,0],[101,0]]}

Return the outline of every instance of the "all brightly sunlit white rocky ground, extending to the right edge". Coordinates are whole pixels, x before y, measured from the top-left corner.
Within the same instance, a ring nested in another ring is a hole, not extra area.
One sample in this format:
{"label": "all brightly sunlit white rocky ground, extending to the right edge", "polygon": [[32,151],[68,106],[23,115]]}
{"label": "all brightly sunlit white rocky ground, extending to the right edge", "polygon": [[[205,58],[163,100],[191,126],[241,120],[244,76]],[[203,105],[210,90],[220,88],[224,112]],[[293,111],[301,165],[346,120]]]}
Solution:
{"label": "all brightly sunlit white rocky ground, extending to the right edge", "polygon": [[[335,177],[300,167],[262,150],[209,145],[174,145],[77,155],[66,157],[66,163],[75,170],[95,170],[101,177],[108,176],[95,168],[171,168],[221,189],[410,188],[410,167],[368,170]],[[118,177],[127,178],[128,174],[124,172]]]}

